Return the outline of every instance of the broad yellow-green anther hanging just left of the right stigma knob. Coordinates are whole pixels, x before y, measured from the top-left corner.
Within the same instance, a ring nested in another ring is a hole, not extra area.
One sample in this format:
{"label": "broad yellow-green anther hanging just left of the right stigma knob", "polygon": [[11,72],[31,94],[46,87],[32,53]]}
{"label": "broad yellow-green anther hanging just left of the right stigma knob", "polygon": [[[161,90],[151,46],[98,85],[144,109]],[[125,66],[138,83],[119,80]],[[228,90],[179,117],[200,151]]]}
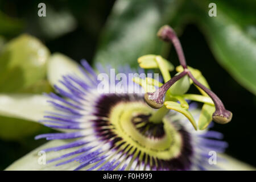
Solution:
{"label": "broad yellow-green anther hanging just left of the right stigma knob", "polygon": [[198,127],[199,130],[204,130],[207,128],[209,123],[212,121],[212,114],[215,111],[213,105],[204,104],[200,113]]}

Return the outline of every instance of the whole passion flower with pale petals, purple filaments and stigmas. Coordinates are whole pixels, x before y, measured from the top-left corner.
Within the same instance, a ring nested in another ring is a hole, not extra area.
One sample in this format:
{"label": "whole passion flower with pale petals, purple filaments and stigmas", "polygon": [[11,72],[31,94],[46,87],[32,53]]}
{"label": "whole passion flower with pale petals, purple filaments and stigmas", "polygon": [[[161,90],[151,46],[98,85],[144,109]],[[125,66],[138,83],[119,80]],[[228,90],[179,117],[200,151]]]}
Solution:
{"label": "whole passion flower with pale petals, purple filaments and stigmas", "polygon": [[[177,52],[180,56],[179,48]],[[67,57],[53,55],[48,63],[48,79],[56,93],[26,99],[24,96],[0,97],[6,103],[0,108],[2,113],[36,120],[61,131],[36,136],[35,139],[52,141],[7,169],[222,169],[218,156],[227,143],[221,140],[221,133],[208,131],[212,118],[207,115],[214,112],[215,106],[218,113],[213,114],[213,118],[217,115],[217,122],[229,122],[231,117],[218,97],[207,89],[204,77],[188,68],[184,60],[181,61],[184,70],[177,67],[181,73],[173,78],[169,73],[172,65],[160,56],[142,56],[138,62],[142,68],[159,68],[165,84],[152,78],[135,77],[134,82],[126,82],[121,87],[115,84],[113,88],[109,80],[104,80],[111,92],[98,92],[98,84],[102,81],[98,80],[97,73],[108,74],[109,69],[100,66],[94,71],[85,60],[80,67]],[[127,77],[136,72],[129,67],[116,71]],[[203,86],[193,76],[200,79]],[[199,86],[204,96],[185,94],[192,83]],[[133,93],[129,92],[130,88],[134,89]],[[51,107],[46,106],[46,99]],[[201,113],[193,102],[189,105],[188,100],[204,102]],[[22,107],[23,102],[29,105],[29,110]],[[8,107],[13,107],[14,111],[9,111]],[[46,111],[43,116],[40,110]],[[205,128],[207,130],[202,130]]]}

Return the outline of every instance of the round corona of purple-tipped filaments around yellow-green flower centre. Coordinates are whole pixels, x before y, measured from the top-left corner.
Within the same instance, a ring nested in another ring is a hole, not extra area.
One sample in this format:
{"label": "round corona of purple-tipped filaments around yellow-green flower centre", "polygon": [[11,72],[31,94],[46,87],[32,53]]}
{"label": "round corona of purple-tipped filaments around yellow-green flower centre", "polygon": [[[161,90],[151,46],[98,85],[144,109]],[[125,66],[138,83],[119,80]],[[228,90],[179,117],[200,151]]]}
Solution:
{"label": "round corona of purple-tipped filaments around yellow-green flower centre", "polygon": [[[86,61],[81,63],[84,77],[63,76],[64,87],[55,86],[58,94],[48,94],[53,109],[40,122],[64,133],[41,134],[35,139],[69,142],[43,150],[59,152],[46,166],[75,170],[208,169],[212,167],[209,151],[222,152],[227,146],[218,140],[222,134],[195,131],[176,111],[152,122],[150,118],[158,110],[147,105],[143,93],[97,92],[96,72]],[[122,88],[129,86],[131,83]],[[189,110],[199,117],[195,106]],[[72,151],[61,152],[67,149]]]}

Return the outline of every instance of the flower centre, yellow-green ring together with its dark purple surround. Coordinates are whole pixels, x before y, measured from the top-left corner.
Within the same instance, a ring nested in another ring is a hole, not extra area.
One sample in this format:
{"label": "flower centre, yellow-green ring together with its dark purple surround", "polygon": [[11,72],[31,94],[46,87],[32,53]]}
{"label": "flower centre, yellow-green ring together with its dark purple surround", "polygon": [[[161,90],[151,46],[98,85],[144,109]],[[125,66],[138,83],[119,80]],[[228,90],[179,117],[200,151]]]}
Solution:
{"label": "flower centre, yellow-green ring together with its dark purple surround", "polygon": [[[98,135],[102,135],[99,127],[104,128],[104,140],[112,140],[113,147],[118,146],[118,150],[127,150],[127,154],[137,152],[138,157],[146,154],[164,160],[175,158],[180,154],[182,146],[180,133],[167,119],[157,124],[149,122],[148,118],[155,110],[143,101],[143,97],[135,94],[133,96],[109,94],[101,98],[97,108],[103,109],[105,115],[101,117],[108,119],[104,125],[101,121],[96,131]],[[102,114],[101,111],[97,113]],[[109,136],[112,136],[112,139]],[[130,146],[130,150],[127,146]]]}

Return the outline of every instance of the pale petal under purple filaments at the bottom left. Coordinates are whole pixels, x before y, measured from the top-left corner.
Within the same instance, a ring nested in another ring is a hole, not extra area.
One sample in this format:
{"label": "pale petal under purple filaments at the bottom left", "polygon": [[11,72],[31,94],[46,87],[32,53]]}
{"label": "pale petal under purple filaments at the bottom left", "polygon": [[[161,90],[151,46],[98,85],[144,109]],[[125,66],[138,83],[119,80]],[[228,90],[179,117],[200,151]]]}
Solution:
{"label": "pale petal under purple filaments at the bottom left", "polygon": [[[44,163],[45,160],[47,161],[53,158],[57,158],[61,155],[67,154],[69,152],[73,152],[77,149],[77,148],[69,148],[66,150],[61,150],[56,152],[55,151],[46,152],[46,153],[43,152],[43,150],[46,148],[57,147],[67,143],[68,143],[67,140],[53,140],[51,142],[43,144],[43,146],[36,148],[35,150],[31,151],[27,155],[23,156],[22,158],[16,160],[13,164],[11,164],[5,170],[7,171],[73,170],[80,165],[79,162],[71,162],[58,167],[56,167],[55,164],[60,163],[63,160],[59,160],[57,162],[53,162],[49,164]],[[67,160],[67,159],[64,159],[64,160]]]}

